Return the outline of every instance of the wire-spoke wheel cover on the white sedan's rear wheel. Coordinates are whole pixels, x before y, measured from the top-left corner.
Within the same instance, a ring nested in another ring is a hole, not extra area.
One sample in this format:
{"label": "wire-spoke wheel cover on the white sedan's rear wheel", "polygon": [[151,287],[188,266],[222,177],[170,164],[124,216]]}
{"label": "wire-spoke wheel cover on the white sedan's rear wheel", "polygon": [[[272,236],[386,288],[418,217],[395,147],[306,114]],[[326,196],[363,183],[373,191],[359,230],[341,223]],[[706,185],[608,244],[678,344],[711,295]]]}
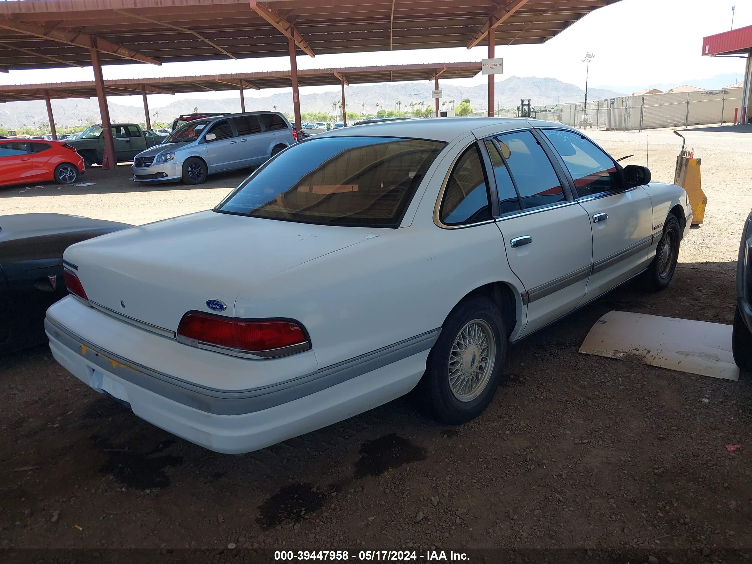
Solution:
{"label": "wire-spoke wheel cover on the white sedan's rear wheel", "polygon": [[472,402],[483,393],[496,362],[496,338],[490,325],[475,319],[459,330],[447,364],[449,386],[460,402]]}

